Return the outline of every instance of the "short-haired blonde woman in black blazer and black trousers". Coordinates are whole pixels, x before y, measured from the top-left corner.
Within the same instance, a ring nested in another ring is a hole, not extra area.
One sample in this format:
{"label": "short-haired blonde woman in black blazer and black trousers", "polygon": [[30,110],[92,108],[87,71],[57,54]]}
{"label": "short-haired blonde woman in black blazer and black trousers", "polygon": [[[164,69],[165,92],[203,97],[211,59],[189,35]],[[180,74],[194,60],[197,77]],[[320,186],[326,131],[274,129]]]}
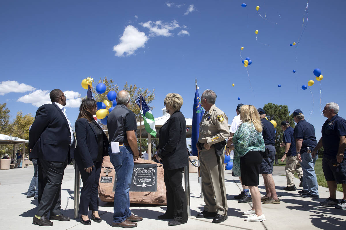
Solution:
{"label": "short-haired blonde woman in black blazer and black trousers", "polygon": [[177,93],[167,94],[164,106],[171,117],[158,133],[156,159],[162,160],[167,195],[166,213],[158,219],[173,219],[169,225],[179,225],[188,220],[186,196],[182,186],[183,167],[188,165],[186,155],[186,121],[180,112],[183,98]]}

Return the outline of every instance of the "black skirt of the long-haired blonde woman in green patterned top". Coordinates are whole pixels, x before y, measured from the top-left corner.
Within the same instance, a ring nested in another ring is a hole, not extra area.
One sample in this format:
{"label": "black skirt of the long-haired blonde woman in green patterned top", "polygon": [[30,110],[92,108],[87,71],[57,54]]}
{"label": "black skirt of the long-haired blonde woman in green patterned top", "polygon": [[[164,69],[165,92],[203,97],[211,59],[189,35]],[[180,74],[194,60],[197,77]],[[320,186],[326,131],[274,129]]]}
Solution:
{"label": "black skirt of the long-haired blonde woman in green patterned top", "polygon": [[240,157],[240,175],[245,186],[257,186],[259,184],[261,162],[263,152],[248,151],[244,157]]}

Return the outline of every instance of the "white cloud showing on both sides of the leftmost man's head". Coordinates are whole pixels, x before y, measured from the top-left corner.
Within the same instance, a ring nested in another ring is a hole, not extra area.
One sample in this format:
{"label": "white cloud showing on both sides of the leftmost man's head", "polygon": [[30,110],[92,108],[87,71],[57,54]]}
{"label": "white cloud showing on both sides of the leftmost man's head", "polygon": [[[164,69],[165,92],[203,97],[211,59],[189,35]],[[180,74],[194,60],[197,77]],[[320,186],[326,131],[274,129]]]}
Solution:
{"label": "white cloud showing on both sides of the leftmost man's head", "polygon": [[[40,107],[43,104],[50,104],[52,103],[51,99],[49,98],[49,93],[51,91],[49,90],[35,90],[34,92],[31,92],[29,94],[26,94],[20,98],[18,98],[17,101],[29,103],[33,106]],[[66,94],[66,106],[70,108],[78,108],[81,104],[81,99],[79,98],[79,92],[74,91],[64,91],[64,94]]]}

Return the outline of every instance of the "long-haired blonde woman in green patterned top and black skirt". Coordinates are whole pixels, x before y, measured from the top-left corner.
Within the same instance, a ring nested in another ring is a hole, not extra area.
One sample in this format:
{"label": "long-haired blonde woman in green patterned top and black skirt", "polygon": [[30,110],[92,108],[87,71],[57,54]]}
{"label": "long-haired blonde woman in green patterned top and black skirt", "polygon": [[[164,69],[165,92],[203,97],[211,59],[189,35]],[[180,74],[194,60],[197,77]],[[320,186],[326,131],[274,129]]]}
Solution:
{"label": "long-haired blonde woman in green patterned top and black skirt", "polygon": [[240,107],[239,113],[243,123],[233,136],[235,148],[233,171],[236,175],[241,175],[242,184],[249,187],[253,201],[252,209],[244,212],[244,215],[252,217],[245,220],[265,221],[261,208],[260,190],[257,187],[265,151],[260,114],[251,104]]}

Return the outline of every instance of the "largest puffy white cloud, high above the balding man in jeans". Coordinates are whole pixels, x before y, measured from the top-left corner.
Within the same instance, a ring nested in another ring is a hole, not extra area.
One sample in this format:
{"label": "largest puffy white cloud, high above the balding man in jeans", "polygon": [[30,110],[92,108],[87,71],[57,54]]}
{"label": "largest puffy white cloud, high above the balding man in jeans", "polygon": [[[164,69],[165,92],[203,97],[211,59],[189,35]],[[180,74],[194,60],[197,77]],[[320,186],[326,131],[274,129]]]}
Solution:
{"label": "largest puffy white cloud, high above the balding man in jeans", "polygon": [[144,32],[138,31],[134,26],[127,26],[119,39],[120,43],[113,47],[113,51],[118,57],[123,57],[124,53],[127,53],[126,56],[130,56],[138,48],[144,47],[148,39]]}

